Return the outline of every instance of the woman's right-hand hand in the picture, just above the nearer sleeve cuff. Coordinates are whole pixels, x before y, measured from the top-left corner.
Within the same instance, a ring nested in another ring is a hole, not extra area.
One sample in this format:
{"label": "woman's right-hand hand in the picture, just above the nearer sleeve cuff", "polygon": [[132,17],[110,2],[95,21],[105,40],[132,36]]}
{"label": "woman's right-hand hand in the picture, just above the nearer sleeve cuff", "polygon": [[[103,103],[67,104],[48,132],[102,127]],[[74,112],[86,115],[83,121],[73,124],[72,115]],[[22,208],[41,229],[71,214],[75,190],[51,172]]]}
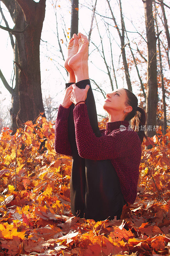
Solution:
{"label": "woman's right-hand hand in the picture, just above the nearer sleeve cuff", "polygon": [[85,89],[80,89],[75,84],[72,84],[73,90],[71,91],[71,98],[70,100],[76,105],[80,100],[86,100],[87,92],[90,86],[87,84]]}

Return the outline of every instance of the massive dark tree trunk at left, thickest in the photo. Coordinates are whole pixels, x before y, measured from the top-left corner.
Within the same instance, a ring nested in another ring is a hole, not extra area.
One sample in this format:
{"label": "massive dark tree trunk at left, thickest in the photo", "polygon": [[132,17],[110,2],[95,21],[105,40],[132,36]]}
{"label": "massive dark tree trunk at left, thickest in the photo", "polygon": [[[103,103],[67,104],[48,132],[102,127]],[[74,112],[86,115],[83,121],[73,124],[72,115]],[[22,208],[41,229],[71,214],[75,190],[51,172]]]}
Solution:
{"label": "massive dark tree trunk at left, thickest in the photo", "polygon": [[39,3],[33,0],[17,0],[17,2],[22,10],[17,5],[15,28],[23,30],[29,24],[24,33],[15,34],[19,66],[19,112],[17,115],[19,126],[20,123],[28,120],[33,121],[40,112],[44,112],[41,93],[40,38],[46,5],[45,0],[40,0]]}

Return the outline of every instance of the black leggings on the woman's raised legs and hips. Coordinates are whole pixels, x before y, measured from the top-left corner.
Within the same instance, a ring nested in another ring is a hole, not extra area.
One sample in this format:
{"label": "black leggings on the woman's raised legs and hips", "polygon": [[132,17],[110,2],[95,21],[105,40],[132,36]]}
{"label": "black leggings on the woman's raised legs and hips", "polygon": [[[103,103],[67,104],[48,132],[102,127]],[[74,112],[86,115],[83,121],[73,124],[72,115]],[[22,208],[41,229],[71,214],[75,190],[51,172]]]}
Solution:
{"label": "black leggings on the woman's raised legs and hips", "polygon": [[[67,83],[66,88],[73,83]],[[82,80],[76,83],[80,89],[85,89],[89,84],[85,104],[93,132],[96,137],[101,136],[98,127],[96,104],[92,92],[90,80]],[[127,202],[124,200],[119,178],[115,168],[109,159],[90,160],[79,156],[75,126],[73,118],[74,104],[70,106],[68,117],[68,135],[72,150],[72,169],[70,178],[70,201],[73,215],[85,219],[109,220],[120,219],[122,208]],[[128,205],[128,204],[127,204]]]}

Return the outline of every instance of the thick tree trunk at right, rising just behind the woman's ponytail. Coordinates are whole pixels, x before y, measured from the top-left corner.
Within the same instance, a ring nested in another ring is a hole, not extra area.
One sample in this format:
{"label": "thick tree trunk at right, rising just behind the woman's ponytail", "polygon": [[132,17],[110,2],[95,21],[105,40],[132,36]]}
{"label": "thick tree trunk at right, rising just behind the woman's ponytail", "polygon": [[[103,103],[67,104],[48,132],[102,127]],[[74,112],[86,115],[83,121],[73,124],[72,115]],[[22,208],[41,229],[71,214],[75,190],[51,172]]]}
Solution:
{"label": "thick tree trunk at right, rising just behind the woman's ponytail", "polygon": [[[147,136],[153,137],[156,134],[154,127],[157,121],[158,106],[158,84],[157,84],[157,52],[156,36],[154,28],[154,18],[152,13],[152,0],[144,1],[146,37],[148,48],[147,65],[147,93],[146,93],[146,124],[151,125],[151,130],[147,130]],[[149,146],[148,148],[151,148]]]}

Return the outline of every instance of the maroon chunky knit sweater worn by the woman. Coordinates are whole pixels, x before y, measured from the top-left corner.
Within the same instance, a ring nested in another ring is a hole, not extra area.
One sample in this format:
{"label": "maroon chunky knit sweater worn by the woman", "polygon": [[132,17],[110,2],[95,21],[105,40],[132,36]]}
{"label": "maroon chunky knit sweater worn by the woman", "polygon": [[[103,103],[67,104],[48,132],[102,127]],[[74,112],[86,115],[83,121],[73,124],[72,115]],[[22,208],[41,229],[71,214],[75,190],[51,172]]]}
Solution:
{"label": "maroon chunky knit sweater worn by the woman", "polygon": [[[55,151],[72,156],[68,138],[68,116],[70,108],[61,104],[55,121]],[[101,137],[94,134],[86,104],[73,109],[76,143],[81,157],[92,160],[110,159],[120,180],[124,199],[133,204],[137,197],[139,165],[141,162],[141,141],[128,121],[107,122],[106,129],[100,130]],[[123,130],[120,125],[124,125]]]}

